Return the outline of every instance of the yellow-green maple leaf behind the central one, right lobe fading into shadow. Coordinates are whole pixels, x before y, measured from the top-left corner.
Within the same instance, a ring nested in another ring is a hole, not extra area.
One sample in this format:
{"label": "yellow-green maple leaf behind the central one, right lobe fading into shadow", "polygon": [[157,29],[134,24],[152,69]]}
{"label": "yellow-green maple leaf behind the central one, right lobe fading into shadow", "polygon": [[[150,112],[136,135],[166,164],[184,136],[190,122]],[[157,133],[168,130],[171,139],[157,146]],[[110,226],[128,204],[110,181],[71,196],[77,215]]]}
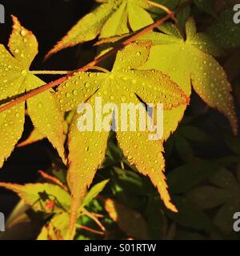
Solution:
{"label": "yellow-green maple leaf behind the central one, right lobe fading into shadow", "polygon": [[[205,34],[196,32],[192,18],[186,23],[186,40],[174,25],[166,24],[160,29],[164,34],[150,32],[140,39],[152,40],[154,44],[150,51],[150,58],[142,69],[153,68],[170,75],[188,96],[191,94],[192,85],[207,105],[225,114],[230,120],[234,134],[237,134],[238,123],[230,82],[222,66],[210,55],[217,56],[218,48]],[[176,115],[174,120],[178,122],[184,110],[184,106],[170,110],[165,113],[165,118],[170,120],[170,116],[174,114]],[[176,122],[165,124],[166,138],[177,125]]]}

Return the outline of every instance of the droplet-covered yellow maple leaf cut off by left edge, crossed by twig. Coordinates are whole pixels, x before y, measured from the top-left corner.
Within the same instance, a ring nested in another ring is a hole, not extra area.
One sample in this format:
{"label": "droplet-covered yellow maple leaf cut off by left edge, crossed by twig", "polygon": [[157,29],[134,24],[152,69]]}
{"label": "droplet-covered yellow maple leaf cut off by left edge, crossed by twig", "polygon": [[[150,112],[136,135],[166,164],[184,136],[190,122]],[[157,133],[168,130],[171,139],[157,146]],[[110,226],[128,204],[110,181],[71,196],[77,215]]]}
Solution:
{"label": "droplet-covered yellow maple leaf cut off by left edge, crossed by twig", "polygon": [[[0,45],[0,101],[5,103],[19,94],[34,90],[45,84],[29,71],[30,64],[38,54],[38,42],[29,30],[23,28],[18,19],[13,17],[14,26],[10,36],[9,48]],[[49,139],[58,153],[64,156],[63,116],[59,110],[54,90],[47,90],[26,101],[28,114],[35,128],[42,136]],[[25,102],[0,114],[2,128],[0,140],[0,167],[14,150],[22,136],[25,119]]]}

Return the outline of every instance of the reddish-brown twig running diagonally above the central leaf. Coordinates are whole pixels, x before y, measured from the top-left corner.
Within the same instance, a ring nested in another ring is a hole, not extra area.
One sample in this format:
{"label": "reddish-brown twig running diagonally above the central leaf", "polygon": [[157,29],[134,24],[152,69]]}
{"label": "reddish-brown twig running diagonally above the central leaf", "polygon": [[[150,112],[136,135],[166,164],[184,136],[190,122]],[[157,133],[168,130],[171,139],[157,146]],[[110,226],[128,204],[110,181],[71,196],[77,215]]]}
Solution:
{"label": "reddish-brown twig running diagonally above the central leaf", "polygon": [[[173,14],[178,14],[181,10],[186,8],[192,0],[189,0],[187,2],[184,2],[181,6],[178,7],[177,10],[173,12]],[[41,86],[35,90],[31,90],[30,92],[24,94],[23,96],[20,96],[19,98],[14,99],[12,102],[8,102],[5,105],[0,107],[0,113],[3,111],[6,111],[10,109],[13,106],[18,105],[19,103],[25,102],[27,99],[32,98],[38,94],[41,94],[42,92],[49,90],[50,88],[53,88],[54,86],[60,85],[62,82],[65,82],[67,79],[71,78],[74,76],[75,72],[84,72],[86,70],[89,70],[93,66],[96,66],[99,62],[102,62],[102,60],[109,58],[111,55],[116,54],[118,50],[121,50],[124,46],[127,46],[131,42],[134,42],[136,39],[142,36],[142,34],[146,34],[147,32],[154,30],[155,27],[160,26],[163,22],[166,22],[169,18],[172,18],[172,14],[167,14],[164,18],[159,19],[157,22],[154,22],[150,26],[146,26],[146,28],[138,31],[135,33],[132,37],[126,39],[126,41],[122,42],[121,45],[116,46],[114,49],[108,51],[106,54],[103,54],[102,56],[95,58],[94,61],[88,63],[86,66],[82,66],[82,68],[75,70],[74,72],[67,74],[65,77],[59,78],[53,82],[47,83],[44,86]]]}

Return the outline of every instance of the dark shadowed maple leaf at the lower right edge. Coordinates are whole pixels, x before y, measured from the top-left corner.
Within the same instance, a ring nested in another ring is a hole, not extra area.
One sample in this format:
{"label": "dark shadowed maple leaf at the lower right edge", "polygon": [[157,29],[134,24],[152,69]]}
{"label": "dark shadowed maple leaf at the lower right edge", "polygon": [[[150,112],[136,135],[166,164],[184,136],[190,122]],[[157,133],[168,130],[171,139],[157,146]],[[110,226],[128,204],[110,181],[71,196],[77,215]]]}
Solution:
{"label": "dark shadowed maple leaf at the lower right edge", "polygon": [[210,178],[210,185],[198,186],[187,194],[190,201],[202,210],[219,207],[214,216],[214,224],[224,234],[232,232],[233,216],[240,207],[239,170],[236,176],[234,177],[229,170],[221,168]]}

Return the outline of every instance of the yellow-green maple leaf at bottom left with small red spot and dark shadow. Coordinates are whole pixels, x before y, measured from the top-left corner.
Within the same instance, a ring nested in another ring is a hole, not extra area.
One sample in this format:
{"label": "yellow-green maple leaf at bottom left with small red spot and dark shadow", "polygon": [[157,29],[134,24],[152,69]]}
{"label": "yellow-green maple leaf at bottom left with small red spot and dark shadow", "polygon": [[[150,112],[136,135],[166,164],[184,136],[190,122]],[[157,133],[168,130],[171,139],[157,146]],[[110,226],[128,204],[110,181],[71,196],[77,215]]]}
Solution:
{"label": "yellow-green maple leaf at bottom left with small red spot and dark shadow", "polygon": [[[57,178],[52,181],[58,186],[50,183],[18,185],[0,182],[0,187],[14,191],[34,210],[54,214],[48,225],[42,227],[38,240],[68,240],[70,239],[70,194]],[[93,186],[83,198],[80,209],[83,210],[96,198],[108,182],[109,180],[105,180]],[[79,211],[78,217],[82,214],[84,215],[83,211]]]}

